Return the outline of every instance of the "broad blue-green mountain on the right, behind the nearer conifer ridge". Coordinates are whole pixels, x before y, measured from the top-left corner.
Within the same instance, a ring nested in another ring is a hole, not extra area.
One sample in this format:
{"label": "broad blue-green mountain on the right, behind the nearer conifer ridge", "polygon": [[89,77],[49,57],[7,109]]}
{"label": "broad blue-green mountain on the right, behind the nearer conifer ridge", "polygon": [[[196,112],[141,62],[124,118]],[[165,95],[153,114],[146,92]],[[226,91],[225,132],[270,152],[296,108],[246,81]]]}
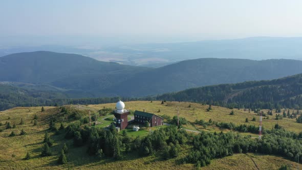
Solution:
{"label": "broad blue-green mountain on the right, behind the nearer conifer ridge", "polygon": [[[138,73],[122,83],[122,96],[156,95],[193,87],[269,80],[302,73],[302,61],[201,58]],[[120,85],[119,85],[120,86]],[[111,88],[109,91],[117,89]]]}

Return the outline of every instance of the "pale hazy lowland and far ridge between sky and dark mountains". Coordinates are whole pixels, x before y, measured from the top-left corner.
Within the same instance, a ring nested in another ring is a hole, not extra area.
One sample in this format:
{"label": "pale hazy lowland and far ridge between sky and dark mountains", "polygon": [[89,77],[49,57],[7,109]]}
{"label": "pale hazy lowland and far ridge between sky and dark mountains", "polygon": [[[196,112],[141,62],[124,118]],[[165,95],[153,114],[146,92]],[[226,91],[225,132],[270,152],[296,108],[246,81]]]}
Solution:
{"label": "pale hazy lowland and far ridge between sky and dark mountains", "polygon": [[123,44],[107,46],[2,47],[0,56],[19,52],[56,51],[89,56],[100,61],[158,68],[188,59],[297,59],[302,60],[302,37],[250,37],[195,42]]}

